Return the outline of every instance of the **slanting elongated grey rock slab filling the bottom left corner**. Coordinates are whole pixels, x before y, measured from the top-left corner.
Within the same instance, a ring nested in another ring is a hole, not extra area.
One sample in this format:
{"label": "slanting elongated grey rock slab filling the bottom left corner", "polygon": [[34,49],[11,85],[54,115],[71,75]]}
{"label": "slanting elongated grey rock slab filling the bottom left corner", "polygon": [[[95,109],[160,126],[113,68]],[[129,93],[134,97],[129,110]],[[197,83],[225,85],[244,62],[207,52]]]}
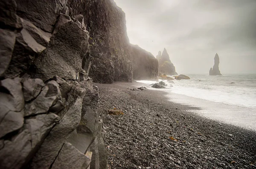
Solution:
{"label": "slanting elongated grey rock slab filling the bottom left corner", "polygon": [[9,136],[11,138],[8,140],[0,140],[0,143],[3,142],[0,168],[20,169],[26,166],[58,120],[58,116],[53,113],[38,115],[25,120],[25,125],[17,135]]}

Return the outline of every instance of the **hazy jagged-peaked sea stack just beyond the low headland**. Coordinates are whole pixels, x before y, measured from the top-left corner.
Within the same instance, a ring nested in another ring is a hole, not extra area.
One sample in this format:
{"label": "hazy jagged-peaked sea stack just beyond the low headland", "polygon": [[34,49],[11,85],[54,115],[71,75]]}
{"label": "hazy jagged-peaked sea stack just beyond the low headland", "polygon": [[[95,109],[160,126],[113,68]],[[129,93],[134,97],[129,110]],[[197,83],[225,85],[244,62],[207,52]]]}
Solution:
{"label": "hazy jagged-peaked sea stack just beyond the low headland", "polygon": [[177,75],[175,71],[175,66],[170,60],[169,54],[167,53],[166,49],[163,49],[163,53],[159,51],[157,56],[158,60],[158,72],[168,74],[168,75]]}

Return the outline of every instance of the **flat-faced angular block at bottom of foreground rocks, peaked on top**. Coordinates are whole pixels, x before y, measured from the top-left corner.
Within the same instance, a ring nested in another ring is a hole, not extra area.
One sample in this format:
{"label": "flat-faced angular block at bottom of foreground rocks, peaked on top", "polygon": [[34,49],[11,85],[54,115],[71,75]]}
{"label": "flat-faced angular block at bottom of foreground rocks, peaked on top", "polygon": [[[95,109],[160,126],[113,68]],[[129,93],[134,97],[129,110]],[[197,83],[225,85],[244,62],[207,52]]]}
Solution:
{"label": "flat-faced angular block at bottom of foreground rocks, peaked on top", "polygon": [[84,163],[90,164],[90,158],[65,142],[51,169],[81,169]]}

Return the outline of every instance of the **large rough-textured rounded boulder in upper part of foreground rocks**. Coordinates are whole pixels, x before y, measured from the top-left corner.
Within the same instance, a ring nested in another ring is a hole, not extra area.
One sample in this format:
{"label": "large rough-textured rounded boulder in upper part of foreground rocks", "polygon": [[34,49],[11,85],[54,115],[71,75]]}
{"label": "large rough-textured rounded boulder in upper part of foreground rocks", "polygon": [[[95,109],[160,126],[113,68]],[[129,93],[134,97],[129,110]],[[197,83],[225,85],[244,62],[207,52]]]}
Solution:
{"label": "large rough-textured rounded boulder in upper part of foreground rocks", "polygon": [[88,39],[88,32],[73,21],[61,25],[53,34],[47,50],[35,59],[36,71],[32,77],[48,80],[58,76],[65,80],[76,80]]}

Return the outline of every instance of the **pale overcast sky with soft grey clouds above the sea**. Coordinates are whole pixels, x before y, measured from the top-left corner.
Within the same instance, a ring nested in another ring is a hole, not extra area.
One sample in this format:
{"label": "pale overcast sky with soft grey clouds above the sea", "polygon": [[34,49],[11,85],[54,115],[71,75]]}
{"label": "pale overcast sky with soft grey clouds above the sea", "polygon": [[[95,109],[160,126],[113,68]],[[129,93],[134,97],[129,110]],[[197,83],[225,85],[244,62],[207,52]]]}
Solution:
{"label": "pale overcast sky with soft grey clouds above the sea", "polygon": [[256,0],[115,0],[130,42],[154,56],[166,48],[176,72],[256,73]]}

